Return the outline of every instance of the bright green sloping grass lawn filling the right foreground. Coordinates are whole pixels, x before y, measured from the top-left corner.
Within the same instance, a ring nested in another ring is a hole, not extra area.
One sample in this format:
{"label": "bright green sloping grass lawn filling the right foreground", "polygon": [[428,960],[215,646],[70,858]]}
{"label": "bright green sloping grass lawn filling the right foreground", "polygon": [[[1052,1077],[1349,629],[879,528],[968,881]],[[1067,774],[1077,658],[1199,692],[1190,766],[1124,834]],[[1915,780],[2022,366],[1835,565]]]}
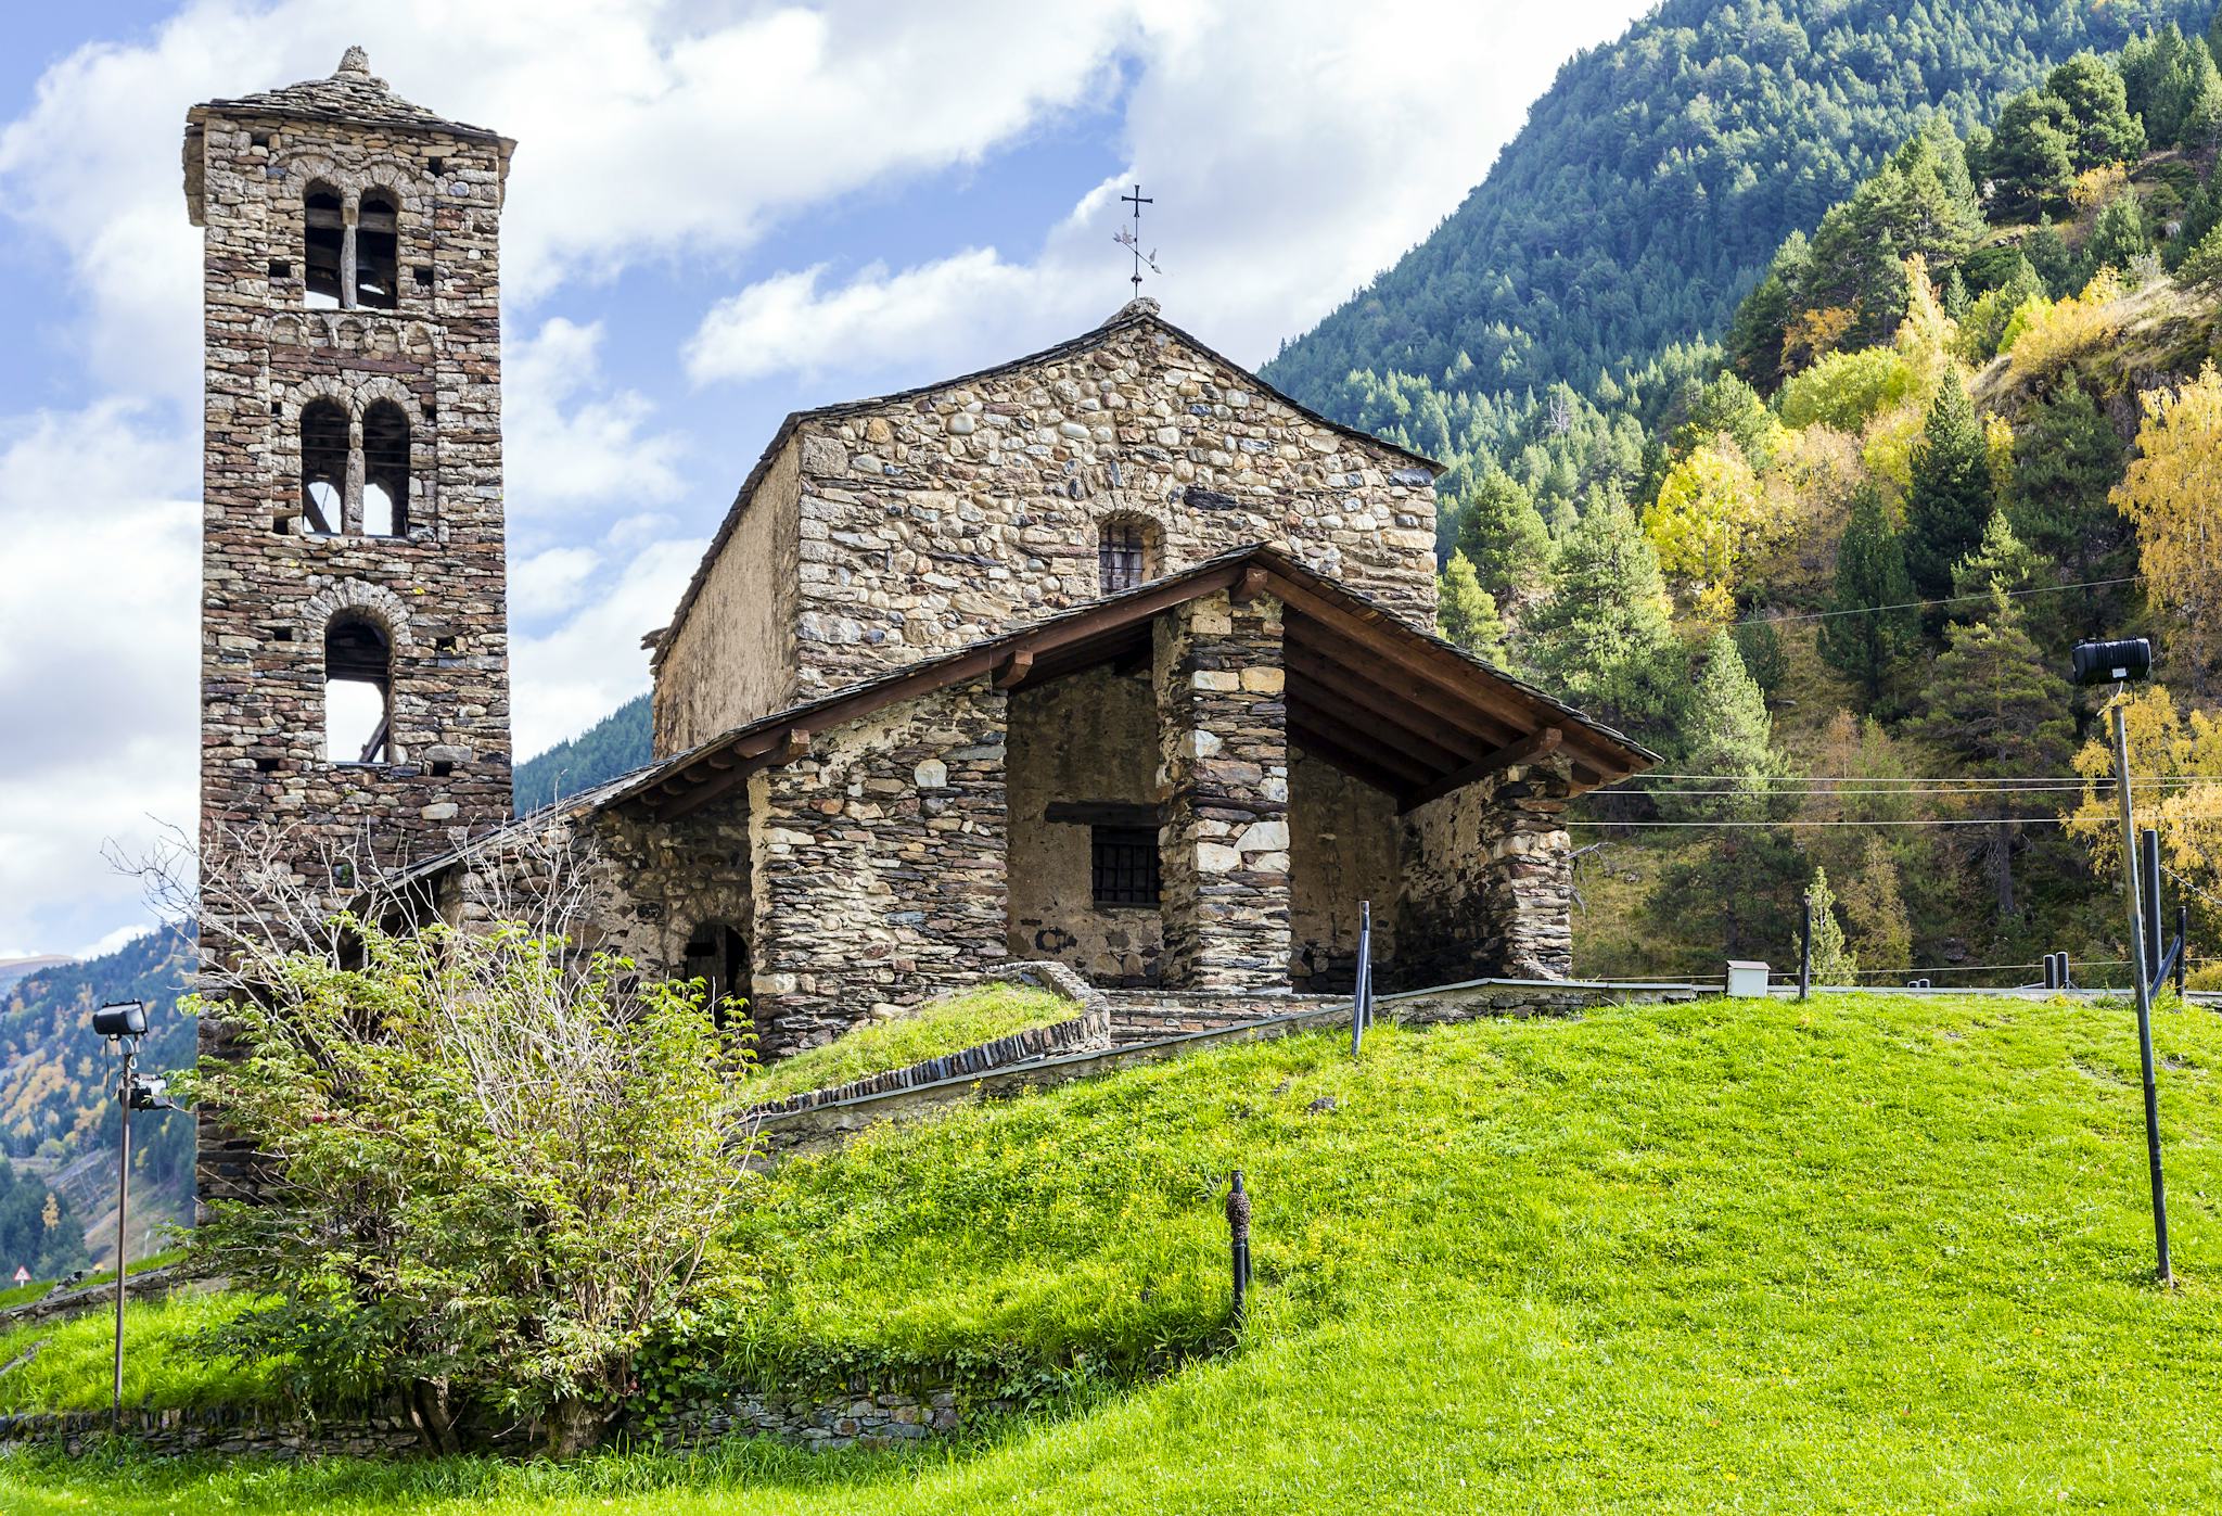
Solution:
{"label": "bright green sloping grass lawn filling the right foreground", "polygon": [[[2222,1509],[2222,1018],[2171,1011],[2151,1276],[2124,1009],[1640,1007],[1302,1036],[762,1180],[762,1365],[1113,1369],[911,1456],[0,1460],[7,1512]],[[1333,1109],[1313,1103],[1333,1098]],[[1258,1296],[1224,1311],[1229,1167]]]}

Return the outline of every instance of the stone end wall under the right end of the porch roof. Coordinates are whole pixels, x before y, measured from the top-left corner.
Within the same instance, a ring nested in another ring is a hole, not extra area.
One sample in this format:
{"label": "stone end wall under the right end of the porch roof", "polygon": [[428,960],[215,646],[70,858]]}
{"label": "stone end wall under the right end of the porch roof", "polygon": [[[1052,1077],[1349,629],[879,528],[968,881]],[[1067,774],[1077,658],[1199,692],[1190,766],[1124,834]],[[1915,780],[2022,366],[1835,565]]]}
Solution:
{"label": "stone end wall under the right end of the porch roof", "polygon": [[1398,954],[1384,985],[1573,974],[1564,756],[1504,769],[1404,818]]}

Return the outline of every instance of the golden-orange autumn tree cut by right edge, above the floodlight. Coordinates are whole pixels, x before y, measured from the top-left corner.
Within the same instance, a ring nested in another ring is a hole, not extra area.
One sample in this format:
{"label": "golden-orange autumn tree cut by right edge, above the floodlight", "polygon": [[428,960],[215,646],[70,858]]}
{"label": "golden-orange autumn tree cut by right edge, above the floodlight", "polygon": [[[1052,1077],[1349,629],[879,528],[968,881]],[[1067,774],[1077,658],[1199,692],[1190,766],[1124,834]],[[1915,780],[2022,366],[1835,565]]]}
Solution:
{"label": "golden-orange autumn tree cut by right edge, above the floodlight", "polygon": [[2178,622],[2175,651],[2213,662],[2222,629],[2222,376],[2144,396],[2138,460],[2113,489],[2138,529],[2146,591]]}

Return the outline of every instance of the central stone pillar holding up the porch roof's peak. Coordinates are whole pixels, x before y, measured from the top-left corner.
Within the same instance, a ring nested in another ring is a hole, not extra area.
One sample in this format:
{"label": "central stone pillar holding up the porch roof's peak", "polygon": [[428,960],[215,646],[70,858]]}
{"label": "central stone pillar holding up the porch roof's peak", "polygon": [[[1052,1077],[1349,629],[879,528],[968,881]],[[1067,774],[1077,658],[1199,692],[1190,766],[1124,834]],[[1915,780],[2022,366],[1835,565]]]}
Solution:
{"label": "central stone pillar holding up the porch roof's peak", "polygon": [[1155,622],[1164,967],[1175,989],[1289,985],[1289,707],[1280,600]]}

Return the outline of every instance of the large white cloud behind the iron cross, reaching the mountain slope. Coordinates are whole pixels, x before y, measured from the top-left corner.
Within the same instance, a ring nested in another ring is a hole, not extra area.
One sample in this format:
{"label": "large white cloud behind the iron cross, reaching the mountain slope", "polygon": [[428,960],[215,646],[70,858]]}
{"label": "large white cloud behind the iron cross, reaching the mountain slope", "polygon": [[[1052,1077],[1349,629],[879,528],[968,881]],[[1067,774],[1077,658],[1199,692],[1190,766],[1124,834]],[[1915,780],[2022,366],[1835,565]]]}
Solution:
{"label": "large white cloud behind the iron cross, reaching the mountain slope", "polygon": [[907,382],[1044,347],[1122,293],[1120,193],[1155,200],[1147,293],[1242,362],[1327,316],[1482,178],[1573,47],[1631,0],[1553,7],[1293,0],[1144,7],[1124,107],[1129,162],[1035,249],[969,247],[842,282],[775,273],[720,300],[687,347],[700,380],[889,373]]}

